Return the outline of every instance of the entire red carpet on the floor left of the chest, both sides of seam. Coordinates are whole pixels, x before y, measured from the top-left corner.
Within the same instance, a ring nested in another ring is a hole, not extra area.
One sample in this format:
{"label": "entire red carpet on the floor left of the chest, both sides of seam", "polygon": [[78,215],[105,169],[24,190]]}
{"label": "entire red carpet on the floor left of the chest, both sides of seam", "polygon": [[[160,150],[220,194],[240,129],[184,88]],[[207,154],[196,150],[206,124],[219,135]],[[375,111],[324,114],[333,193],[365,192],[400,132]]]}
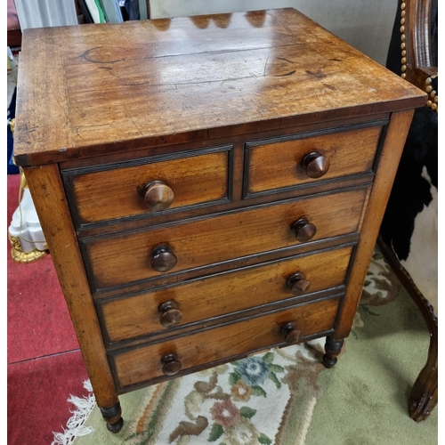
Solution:
{"label": "entire red carpet on the floor left of the chest, both sides of seam", "polygon": [[[20,175],[8,175],[7,225],[18,206]],[[7,238],[7,233],[5,233]],[[7,242],[8,444],[50,445],[62,433],[70,394],[88,378],[50,255],[14,263]]]}

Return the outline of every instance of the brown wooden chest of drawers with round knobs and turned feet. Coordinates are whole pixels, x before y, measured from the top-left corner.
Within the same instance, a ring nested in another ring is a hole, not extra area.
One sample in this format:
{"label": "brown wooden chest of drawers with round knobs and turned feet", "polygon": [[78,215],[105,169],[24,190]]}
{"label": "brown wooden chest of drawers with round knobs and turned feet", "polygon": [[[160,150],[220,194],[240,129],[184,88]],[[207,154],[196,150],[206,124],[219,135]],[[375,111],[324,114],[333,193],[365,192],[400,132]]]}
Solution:
{"label": "brown wooden chest of drawers with round knobs and turned feet", "polygon": [[110,431],[270,347],[335,365],[425,101],[294,9],[25,30],[15,161]]}

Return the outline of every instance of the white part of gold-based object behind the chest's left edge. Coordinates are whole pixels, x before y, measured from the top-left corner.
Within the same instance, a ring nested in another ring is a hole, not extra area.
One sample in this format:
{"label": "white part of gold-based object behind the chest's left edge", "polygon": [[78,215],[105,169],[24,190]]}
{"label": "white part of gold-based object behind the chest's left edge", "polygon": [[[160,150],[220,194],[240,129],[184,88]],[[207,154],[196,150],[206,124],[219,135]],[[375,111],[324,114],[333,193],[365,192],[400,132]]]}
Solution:
{"label": "white part of gold-based object behind the chest's left edge", "polygon": [[8,231],[12,237],[20,239],[21,248],[26,254],[35,249],[43,251],[48,248],[42,226],[38,221],[36,207],[28,189],[23,190],[20,205],[12,214]]}

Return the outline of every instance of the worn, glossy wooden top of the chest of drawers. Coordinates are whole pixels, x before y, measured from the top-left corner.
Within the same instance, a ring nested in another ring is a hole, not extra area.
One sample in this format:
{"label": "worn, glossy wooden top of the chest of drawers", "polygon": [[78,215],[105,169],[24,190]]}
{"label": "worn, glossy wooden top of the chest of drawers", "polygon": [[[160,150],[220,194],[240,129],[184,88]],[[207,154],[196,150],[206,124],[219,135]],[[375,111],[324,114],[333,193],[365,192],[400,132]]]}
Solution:
{"label": "worn, glossy wooden top of the chest of drawers", "polygon": [[32,166],[425,104],[295,9],[26,29],[15,159]]}

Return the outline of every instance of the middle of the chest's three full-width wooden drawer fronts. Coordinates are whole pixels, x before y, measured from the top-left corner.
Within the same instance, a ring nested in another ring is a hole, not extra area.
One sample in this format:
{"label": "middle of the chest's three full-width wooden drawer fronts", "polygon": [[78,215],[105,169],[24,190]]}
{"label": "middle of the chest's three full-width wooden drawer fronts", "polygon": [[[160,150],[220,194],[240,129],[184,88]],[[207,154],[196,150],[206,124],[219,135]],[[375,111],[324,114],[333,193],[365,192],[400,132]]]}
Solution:
{"label": "middle of the chest's three full-width wooden drawer fronts", "polygon": [[352,247],[343,247],[301,255],[99,303],[98,309],[109,341],[118,342],[344,285],[351,254]]}

